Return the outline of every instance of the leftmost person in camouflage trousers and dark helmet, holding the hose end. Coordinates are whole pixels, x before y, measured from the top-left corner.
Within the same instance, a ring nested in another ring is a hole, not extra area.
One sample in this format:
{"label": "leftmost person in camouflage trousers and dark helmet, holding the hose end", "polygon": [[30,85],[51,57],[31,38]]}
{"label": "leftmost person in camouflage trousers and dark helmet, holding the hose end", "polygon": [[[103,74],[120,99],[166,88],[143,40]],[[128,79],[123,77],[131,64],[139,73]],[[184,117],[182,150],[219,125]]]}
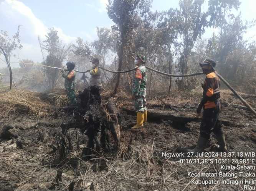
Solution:
{"label": "leftmost person in camouflage trousers and dark helmet, holding the hose end", "polygon": [[68,73],[64,73],[65,70],[61,70],[62,77],[65,78],[65,89],[67,91],[68,99],[71,103],[71,105],[76,105],[76,95],[75,95],[75,78],[76,78],[76,72],[74,71],[75,64],[74,62],[67,62],[66,63]]}

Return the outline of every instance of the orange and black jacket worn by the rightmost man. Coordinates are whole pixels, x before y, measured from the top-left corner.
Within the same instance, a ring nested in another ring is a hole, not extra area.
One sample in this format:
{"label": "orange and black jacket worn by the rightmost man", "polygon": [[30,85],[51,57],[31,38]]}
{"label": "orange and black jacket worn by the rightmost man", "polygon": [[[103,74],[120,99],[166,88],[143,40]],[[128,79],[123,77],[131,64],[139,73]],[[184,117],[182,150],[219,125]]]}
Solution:
{"label": "orange and black jacket worn by the rightmost man", "polygon": [[220,98],[220,78],[215,72],[206,75],[203,87],[203,98],[201,105],[204,109],[215,108],[218,99]]}

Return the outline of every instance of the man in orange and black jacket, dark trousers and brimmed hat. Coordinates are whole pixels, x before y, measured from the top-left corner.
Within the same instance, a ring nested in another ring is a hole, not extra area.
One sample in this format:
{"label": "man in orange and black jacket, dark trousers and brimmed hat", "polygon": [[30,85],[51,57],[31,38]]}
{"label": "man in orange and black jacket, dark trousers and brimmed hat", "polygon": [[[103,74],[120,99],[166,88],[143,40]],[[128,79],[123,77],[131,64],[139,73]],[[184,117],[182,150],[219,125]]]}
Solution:
{"label": "man in orange and black jacket, dark trousers and brimmed hat", "polygon": [[221,152],[227,152],[225,134],[218,121],[221,110],[220,107],[220,78],[214,69],[216,63],[211,59],[206,59],[200,66],[203,73],[206,74],[204,83],[202,84],[203,96],[197,108],[197,113],[201,113],[203,108],[203,118],[200,125],[200,136],[195,149],[188,149],[188,152],[203,152],[211,136],[211,132],[216,135]]}

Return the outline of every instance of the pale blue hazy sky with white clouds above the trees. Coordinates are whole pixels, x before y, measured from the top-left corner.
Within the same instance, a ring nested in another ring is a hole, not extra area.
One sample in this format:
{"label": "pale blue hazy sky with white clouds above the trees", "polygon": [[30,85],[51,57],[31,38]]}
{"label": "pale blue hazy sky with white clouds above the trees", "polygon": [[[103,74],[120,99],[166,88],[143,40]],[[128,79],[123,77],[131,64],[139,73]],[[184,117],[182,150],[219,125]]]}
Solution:
{"label": "pale blue hazy sky with white clouds above the trees", "polygon": [[[240,0],[244,20],[255,18],[255,0]],[[96,26],[110,27],[113,22],[107,16],[107,0],[0,0],[0,30],[15,34],[21,24],[20,39],[23,49],[16,51],[17,58],[41,62],[38,35],[43,38],[50,27],[55,27],[64,42],[75,42],[82,37],[91,42],[97,38]],[[163,11],[178,7],[178,0],[153,0],[152,10]],[[207,9],[207,0],[203,9]],[[236,12],[237,14],[237,12]],[[256,27],[251,28],[246,38],[255,38]],[[211,36],[213,29],[206,29],[203,38]],[[3,57],[0,57],[3,59]],[[0,67],[6,63],[0,60]],[[12,66],[18,64],[12,63]]]}

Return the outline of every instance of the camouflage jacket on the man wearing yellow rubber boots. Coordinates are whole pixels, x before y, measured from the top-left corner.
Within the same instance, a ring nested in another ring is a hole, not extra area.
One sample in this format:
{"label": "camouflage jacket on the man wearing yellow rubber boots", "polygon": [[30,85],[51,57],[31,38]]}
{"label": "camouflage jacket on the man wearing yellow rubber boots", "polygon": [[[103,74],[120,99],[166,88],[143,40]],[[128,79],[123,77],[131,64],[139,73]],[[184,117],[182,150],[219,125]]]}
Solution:
{"label": "camouflage jacket on the man wearing yellow rubber boots", "polygon": [[137,67],[132,85],[132,94],[135,97],[146,97],[147,68],[144,65]]}

